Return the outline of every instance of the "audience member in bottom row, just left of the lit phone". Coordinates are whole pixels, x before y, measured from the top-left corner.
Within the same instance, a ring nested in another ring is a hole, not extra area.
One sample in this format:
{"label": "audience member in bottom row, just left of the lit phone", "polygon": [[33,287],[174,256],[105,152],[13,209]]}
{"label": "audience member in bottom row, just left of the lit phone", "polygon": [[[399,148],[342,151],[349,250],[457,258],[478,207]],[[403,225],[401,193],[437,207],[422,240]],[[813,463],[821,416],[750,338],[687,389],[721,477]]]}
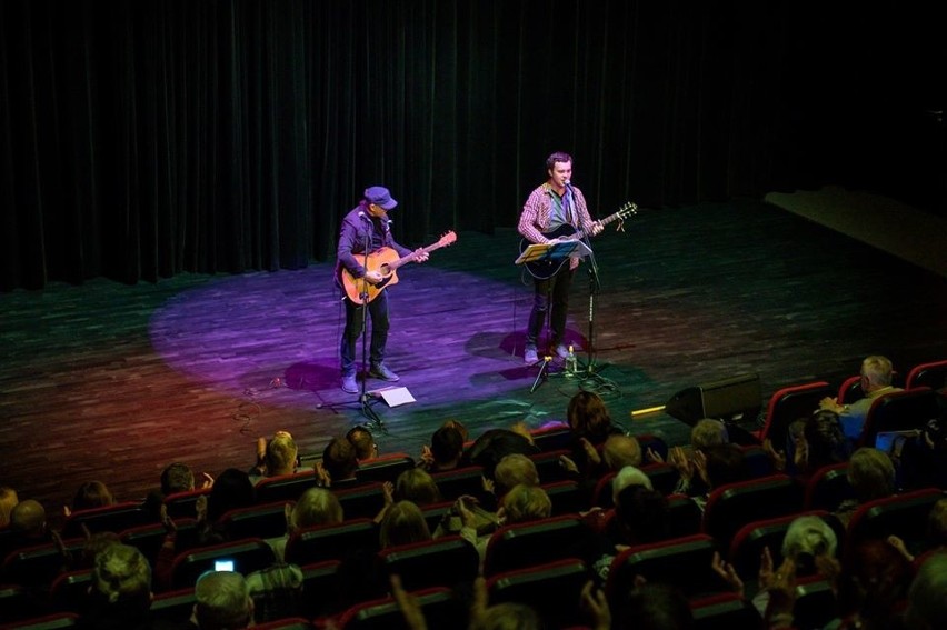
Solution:
{"label": "audience member in bottom row, just left of the lit phone", "polygon": [[151,627],[151,567],[141,551],[112,542],[94,558],[79,626],[97,630]]}

